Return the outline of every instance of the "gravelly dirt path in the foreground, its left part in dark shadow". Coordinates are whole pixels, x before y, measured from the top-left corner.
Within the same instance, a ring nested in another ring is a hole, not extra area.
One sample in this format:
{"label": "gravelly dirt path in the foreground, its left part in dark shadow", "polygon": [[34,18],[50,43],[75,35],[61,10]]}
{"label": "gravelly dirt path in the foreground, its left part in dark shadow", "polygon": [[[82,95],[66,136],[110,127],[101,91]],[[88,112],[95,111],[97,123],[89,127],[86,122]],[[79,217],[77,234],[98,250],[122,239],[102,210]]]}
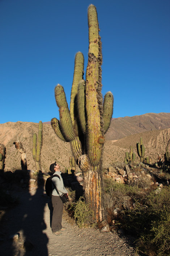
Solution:
{"label": "gravelly dirt path in the foreground, its left part in dark shadow", "polygon": [[[63,219],[67,231],[52,234],[50,199],[43,188],[35,193],[15,192],[20,203],[6,212],[0,223],[1,256],[136,256],[132,243],[111,232],[80,229]],[[17,241],[10,239],[20,234]]]}

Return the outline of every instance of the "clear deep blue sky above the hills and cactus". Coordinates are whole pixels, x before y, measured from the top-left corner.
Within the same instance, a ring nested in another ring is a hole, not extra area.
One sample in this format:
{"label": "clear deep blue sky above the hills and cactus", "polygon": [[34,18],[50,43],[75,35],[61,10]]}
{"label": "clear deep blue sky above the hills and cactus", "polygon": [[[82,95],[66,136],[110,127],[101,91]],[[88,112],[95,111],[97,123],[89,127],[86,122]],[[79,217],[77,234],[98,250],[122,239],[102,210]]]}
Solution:
{"label": "clear deep blue sky above the hills and cactus", "polygon": [[113,117],[170,112],[169,0],[0,0],[0,123],[59,118],[58,83],[69,105],[76,52],[87,65],[89,4]]}

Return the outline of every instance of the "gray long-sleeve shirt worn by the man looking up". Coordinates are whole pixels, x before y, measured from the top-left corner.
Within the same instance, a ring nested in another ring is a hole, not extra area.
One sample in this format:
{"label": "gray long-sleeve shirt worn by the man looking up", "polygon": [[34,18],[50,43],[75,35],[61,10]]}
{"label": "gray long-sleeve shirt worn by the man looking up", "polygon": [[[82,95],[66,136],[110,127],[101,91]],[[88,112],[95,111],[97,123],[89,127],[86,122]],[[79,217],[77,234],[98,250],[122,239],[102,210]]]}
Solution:
{"label": "gray long-sleeve shirt worn by the man looking up", "polygon": [[[57,188],[57,190],[59,191],[59,194],[60,194],[60,196],[62,195],[62,194],[65,194],[65,193],[68,193],[68,191],[65,189],[65,187],[64,187],[64,184],[63,184],[63,179],[62,179],[62,177],[61,177],[61,172],[60,171],[56,171],[56,172],[54,172],[54,174],[53,175],[58,175],[59,177],[60,177],[60,179],[58,178],[58,177],[53,177],[52,178],[52,187],[54,187],[54,185],[53,185],[53,183],[55,184],[55,186],[56,186],[56,188]],[[53,196],[59,196],[58,194],[57,194],[57,191],[55,190],[55,187],[54,187],[54,189],[52,190],[52,195]]]}

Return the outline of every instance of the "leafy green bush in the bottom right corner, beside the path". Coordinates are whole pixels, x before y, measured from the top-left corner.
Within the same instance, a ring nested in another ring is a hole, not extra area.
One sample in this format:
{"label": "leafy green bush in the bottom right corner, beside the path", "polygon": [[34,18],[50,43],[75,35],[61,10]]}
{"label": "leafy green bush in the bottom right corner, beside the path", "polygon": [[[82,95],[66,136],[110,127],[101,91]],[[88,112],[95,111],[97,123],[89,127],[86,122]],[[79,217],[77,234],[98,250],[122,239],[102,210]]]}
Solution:
{"label": "leafy green bush in the bottom right corner, beside the path", "polygon": [[150,192],[125,215],[124,228],[136,235],[137,249],[149,256],[170,256],[170,187]]}

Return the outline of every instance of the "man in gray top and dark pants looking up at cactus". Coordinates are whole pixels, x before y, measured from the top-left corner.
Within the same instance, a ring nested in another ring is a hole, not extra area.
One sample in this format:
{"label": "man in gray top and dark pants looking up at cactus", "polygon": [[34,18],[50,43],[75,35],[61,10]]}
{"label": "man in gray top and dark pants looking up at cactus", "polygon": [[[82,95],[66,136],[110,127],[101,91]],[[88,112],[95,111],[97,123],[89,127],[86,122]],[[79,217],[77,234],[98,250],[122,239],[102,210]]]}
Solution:
{"label": "man in gray top and dark pants looking up at cactus", "polygon": [[[52,163],[50,165],[50,171],[52,172],[53,176],[57,174],[59,177],[54,176],[52,178],[52,186],[56,186],[60,195],[67,193],[68,191],[64,188],[63,179],[61,177],[60,166],[58,163]],[[54,184],[54,185],[53,185]],[[61,235],[62,231],[65,231],[66,228],[63,228],[61,225],[62,222],[62,214],[63,214],[63,202],[61,201],[60,196],[58,195],[55,187],[52,191],[52,233],[54,235]]]}

